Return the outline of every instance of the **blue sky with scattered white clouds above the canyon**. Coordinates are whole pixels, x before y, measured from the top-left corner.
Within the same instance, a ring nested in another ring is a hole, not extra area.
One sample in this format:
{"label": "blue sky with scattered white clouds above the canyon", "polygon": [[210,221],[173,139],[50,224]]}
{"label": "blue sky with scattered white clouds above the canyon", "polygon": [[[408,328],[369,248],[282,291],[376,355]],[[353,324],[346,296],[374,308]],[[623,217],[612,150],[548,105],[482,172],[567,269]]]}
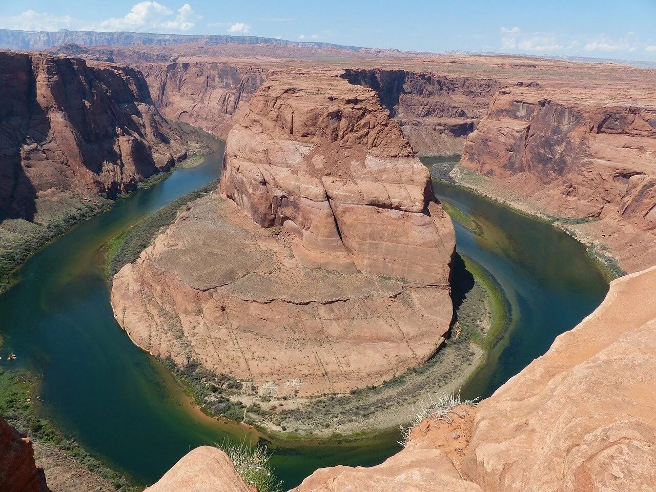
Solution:
{"label": "blue sky with scattered white clouds above the canyon", "polygon": [[656,0],[0,0],[0,28],[251,34],[410,51],[656,61]]}

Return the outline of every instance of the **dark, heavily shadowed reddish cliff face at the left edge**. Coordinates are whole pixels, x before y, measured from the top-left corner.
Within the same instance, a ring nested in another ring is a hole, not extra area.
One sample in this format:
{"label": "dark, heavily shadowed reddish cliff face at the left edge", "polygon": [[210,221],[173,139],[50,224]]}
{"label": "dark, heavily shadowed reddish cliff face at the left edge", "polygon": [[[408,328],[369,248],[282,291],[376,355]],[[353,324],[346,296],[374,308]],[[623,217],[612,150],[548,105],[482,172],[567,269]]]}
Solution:
{"label": "dark, heavily shadowed reddish cliff face at the left edge", "polygon": [[140,73],[76,58],[0,52],[0,130],[5,217],[62,193],[115,197],[184,154]]}

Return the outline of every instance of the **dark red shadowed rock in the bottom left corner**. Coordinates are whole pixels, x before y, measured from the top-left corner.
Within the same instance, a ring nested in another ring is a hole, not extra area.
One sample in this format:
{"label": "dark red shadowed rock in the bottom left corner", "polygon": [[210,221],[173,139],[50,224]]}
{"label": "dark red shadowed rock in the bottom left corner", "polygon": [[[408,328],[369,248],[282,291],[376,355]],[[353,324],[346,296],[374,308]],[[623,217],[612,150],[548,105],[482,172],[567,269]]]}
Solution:
{"label": "dark red shadowed rock in the bottom left corner", "polygon": [[0,490],[3,492],[50,492],[43,470],[34,462],[30,438],[0,417]]}

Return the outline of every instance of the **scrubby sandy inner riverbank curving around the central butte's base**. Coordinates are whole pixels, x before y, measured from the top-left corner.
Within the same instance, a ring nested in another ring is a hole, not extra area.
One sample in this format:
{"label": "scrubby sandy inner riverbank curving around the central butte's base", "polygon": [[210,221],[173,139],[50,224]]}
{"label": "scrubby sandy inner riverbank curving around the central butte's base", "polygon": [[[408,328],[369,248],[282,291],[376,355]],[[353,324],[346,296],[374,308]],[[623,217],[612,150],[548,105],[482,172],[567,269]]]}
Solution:
{"label": "scrubby sandy inner riverbank curving around the central butte's base", "polygon": [[[207,187],[206,187],[207,188]],[[209,188],[207,188],[209,190]],[[199,190],[203,195],[207,190]],[[188,194],[147,216],[108,243],[106,271],[110,278],[138,258],[159,232],[171,224],[180,208],[197,198]],[[456,215],[457,209],[452,213]],[[466,223],[460,213],[455,220]],[[470,219],[471,220],[471,219]],[[186,365],[162,362],[207,415],[245,422],[272,440],[362,438],[405,424],[413,407],[429,401],[429,394],[457,392],[485,359],[485,350],[502,331],[507,300],[480,264],[456,255],[453,266],[454,335],[426,365],[376,387],[310,398],[272,398],[248,392],[248,382],[216,375],[194,359]]]}

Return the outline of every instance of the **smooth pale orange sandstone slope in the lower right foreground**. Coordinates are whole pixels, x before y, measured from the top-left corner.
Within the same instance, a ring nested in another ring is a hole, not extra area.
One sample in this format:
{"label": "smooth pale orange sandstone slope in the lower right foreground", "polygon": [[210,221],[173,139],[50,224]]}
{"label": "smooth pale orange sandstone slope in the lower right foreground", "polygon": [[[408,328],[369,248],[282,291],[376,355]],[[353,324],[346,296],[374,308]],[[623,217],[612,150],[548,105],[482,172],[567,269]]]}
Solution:
{"label": "smooth pale orange sandstone slope in the lower right foreground", "polygon": [[383,464],[318,470],[293,490],[653,490],[654,285],[656,267],[613,281],[588,318],[478,407],[425,420]]}

